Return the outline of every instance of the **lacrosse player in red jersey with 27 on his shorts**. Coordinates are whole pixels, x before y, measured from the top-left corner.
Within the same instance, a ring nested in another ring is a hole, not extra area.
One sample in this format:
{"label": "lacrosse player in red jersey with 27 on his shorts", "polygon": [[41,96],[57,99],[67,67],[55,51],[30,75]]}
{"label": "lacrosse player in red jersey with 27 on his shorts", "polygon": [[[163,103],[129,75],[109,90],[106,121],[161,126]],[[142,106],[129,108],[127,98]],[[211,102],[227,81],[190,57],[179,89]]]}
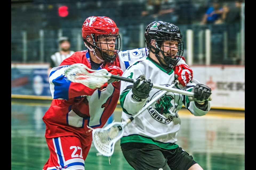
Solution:
{"label": "lacrosse player in red jersey with 27 on his shorts", "polygon": [[[90,128],[102,128],[119,100],[120,81],[110,79],[100,88],[89,88],[68,80],[65,71],[73,64],[82,63],[89,69],[106,69],[121,76],[133,62],[148,55],[147,48],[120,52],[118,31],[109,17],[90,16],[82,26],[87,50],[75,52],[60,66],[51,69],[49,83],[53,101],[43,116],[50,157],[43,170],[85,169],[84,162],[92,143]],[[186,79],[184,71],[180,73],[180,78]]]}

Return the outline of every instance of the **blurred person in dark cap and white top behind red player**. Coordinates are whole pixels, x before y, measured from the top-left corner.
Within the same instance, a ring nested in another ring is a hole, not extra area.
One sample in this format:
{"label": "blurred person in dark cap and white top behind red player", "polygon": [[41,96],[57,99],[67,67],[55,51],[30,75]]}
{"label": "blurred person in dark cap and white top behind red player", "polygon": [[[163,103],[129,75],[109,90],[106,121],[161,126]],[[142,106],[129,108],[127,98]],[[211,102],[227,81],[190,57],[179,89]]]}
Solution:
{"label": "blurred person in dark cap and white top behind red player", "polygon": [[70,40],[68,37],[60,37],[59,38],[59,47],[60,51],[54,53],[51,55],[51,61],[50,61],[50,67],[48,69],[48,73],[50,73],[50,70],[53,67],[57,67],[61,64],[61,62],[66,59],[67,57],[70,57],[74,51],[70,50]]}

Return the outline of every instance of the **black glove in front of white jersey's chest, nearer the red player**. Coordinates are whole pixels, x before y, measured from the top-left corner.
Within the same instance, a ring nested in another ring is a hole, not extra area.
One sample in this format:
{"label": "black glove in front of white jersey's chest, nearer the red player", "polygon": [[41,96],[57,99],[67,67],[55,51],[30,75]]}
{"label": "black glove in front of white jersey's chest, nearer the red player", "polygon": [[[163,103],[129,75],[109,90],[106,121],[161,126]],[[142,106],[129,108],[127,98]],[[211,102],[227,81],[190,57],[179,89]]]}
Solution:
{"label": "black glove in front of white jersey's chest, nearer the red player", "polygon": [[141,99],[147,99],[149,97],[149,92],[153,87],[153,83],[151,80],[146,80],[146,76],[140,75],[137,81],[133,84],[132,92],[133,92],[133,99],[136,101],[141,101]]}

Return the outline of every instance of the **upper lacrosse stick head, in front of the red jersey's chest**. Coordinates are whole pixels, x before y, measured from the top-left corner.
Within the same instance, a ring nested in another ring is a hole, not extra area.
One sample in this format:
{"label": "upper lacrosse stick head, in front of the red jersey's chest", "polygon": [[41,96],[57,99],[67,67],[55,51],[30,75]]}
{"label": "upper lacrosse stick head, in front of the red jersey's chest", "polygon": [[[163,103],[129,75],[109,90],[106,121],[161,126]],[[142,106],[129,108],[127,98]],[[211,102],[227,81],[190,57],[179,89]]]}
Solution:
{"label": "upper lacrosse stick head, in front of the red jersey's chest", "polygon": [[64,74],[71,82],[82,83],[91,89],[101,88],[111,78],[106,69],[92,70],[81,63],[71,65]]}

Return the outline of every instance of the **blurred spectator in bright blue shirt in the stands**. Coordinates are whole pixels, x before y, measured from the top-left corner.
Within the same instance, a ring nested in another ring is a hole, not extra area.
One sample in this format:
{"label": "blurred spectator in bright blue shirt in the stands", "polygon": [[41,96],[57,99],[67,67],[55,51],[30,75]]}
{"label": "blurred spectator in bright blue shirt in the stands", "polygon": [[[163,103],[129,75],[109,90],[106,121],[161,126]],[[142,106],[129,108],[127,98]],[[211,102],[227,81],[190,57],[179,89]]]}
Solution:
{"label": "blurred spectator in bright blue shirt in the stands", "polygon": [[217,0],[213,1],[212,6],[206,10],[201,24],[215,24],[215,22],[221,18],[222,13],[223,8],[221,7],[220,3]]}

